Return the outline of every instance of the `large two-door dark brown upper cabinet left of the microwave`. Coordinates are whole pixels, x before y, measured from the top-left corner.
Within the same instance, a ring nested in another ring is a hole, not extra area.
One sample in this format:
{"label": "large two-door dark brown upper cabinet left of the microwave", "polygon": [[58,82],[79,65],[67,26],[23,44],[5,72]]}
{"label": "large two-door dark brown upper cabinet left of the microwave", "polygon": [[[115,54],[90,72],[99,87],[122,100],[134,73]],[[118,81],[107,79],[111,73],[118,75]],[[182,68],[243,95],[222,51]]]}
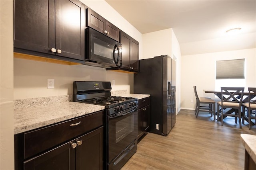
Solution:
{"label": "large two-door dark brown upper cabinet left of the microwave", "polygon": [[78,0],[14,1],[14,52],[84,61],[84,29]]}

